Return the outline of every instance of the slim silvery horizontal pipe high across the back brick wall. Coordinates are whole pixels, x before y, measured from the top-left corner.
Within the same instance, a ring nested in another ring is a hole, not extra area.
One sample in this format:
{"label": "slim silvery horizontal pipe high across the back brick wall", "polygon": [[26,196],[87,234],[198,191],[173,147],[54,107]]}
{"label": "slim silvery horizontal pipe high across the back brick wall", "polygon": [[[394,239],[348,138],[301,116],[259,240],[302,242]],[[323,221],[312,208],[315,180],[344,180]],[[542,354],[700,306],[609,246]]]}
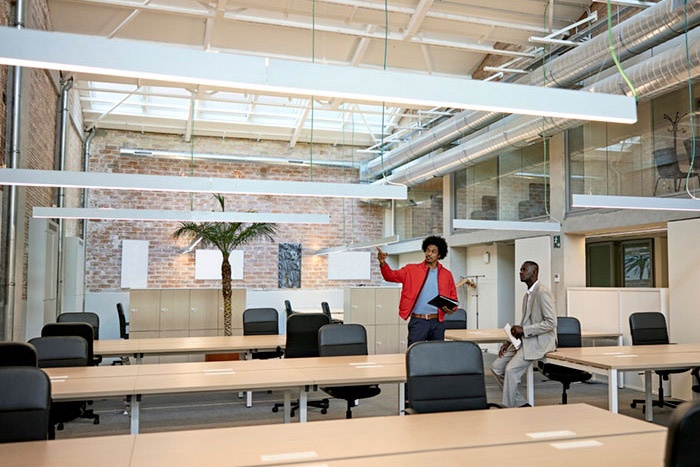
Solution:
{"label": "slim silvery horizontal pipe high across the back brick wall", "polygon": [[[306,159],[287,159],[283,157],[266,157],[266,156],[238,156],[235,154],[207,154],[207,153],[189,153],[189,152],[178,152],[178,151],[166,151],[162,149],[132,149],[132,148],[121,148],[119,150],[120,156],[134,156],[134,157],[157,157],[163,159],[177,159],[177,160],[190,160],[190,159],[209,159],[218,160],[223,162],[255,162],[260,164],[277,164],[277,165],[311,165],[311,161]],[[328,166],[328,167],[340,167],[357,169],[360,166],[359,162],[348,162],[348,161],[328,161],[328,160],[314,160],[313,165],[315,166]]]}

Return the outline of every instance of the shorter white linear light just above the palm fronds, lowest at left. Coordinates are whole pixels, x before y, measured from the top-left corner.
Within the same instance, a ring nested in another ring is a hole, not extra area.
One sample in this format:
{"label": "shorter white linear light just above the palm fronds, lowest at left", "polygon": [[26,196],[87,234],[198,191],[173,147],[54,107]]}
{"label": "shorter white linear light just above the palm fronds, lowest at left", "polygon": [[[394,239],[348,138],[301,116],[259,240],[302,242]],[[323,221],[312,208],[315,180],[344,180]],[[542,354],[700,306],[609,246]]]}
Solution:
{"label": "shorter white linear light just above the palm fronds, lowest at left", "polygon": [[263,212],[208,212],[158,209],[100,209],[35,207],[32,217],[48,219],[140,220],[179,222],[270,222],[279,224],[329,224],[327,214]]}

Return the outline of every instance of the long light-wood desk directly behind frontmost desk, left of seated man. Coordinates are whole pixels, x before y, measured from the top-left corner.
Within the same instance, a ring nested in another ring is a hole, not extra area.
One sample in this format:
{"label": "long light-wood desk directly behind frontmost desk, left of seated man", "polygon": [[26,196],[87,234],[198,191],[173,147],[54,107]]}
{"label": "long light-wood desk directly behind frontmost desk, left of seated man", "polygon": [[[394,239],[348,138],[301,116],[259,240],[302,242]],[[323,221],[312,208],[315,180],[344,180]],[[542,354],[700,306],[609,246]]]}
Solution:
{"label": "long light-wood desk directly behind frontmost desk, left of seated man", "polygon": [[[139,431],[141,397],[183,392],[285,390],[285,422],[290,421],[292,393],[300,400],[299,421],[305,422],[310,387],[348,384],[403,383],[404,354],[358,355],[228,362],[170,363],[73,368],[46,368],[55,400],[126,396],[131,402],[131,432]],[[404,409],[399,384],[398,410]]]}

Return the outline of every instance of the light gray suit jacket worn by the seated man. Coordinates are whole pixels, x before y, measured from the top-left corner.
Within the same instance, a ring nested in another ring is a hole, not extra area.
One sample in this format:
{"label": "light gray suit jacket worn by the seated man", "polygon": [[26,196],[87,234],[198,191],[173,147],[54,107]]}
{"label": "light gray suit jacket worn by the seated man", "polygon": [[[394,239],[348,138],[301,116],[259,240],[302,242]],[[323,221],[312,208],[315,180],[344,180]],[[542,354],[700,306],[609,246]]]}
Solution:
{"label": "light gray suit jacket worn by the seated man", "polygon": [[539,282],[532,291],[530,310],[527,294],[523,297],[522,337],[525,360],[538,360],[557,348],[557,314],[552,292]]}

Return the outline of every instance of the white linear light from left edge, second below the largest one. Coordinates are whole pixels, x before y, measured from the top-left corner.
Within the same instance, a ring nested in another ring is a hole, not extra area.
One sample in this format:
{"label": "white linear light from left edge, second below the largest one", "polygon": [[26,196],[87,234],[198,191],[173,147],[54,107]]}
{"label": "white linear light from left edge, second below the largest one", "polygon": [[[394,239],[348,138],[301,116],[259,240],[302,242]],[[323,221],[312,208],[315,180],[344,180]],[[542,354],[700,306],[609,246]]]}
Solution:
{"label": "white linear light from left edge, second below the largest one", "polygon": [[0,169],[0,185],[330,198],[406,199],[405,185],[289,182],[57,170]]}

